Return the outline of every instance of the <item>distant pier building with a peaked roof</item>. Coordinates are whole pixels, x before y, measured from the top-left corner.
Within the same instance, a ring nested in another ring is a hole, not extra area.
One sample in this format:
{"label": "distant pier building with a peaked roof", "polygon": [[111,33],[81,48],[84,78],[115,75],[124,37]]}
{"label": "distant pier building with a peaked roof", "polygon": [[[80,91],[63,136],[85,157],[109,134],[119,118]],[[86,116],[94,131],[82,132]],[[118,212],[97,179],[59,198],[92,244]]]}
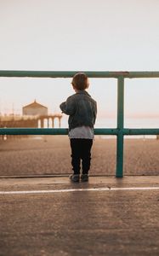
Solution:
{"label": "distant pier building with a peaked roof", "polygon": [[36,100],[23,107],[23,115],[48,115],[48,108],[37,103]]}

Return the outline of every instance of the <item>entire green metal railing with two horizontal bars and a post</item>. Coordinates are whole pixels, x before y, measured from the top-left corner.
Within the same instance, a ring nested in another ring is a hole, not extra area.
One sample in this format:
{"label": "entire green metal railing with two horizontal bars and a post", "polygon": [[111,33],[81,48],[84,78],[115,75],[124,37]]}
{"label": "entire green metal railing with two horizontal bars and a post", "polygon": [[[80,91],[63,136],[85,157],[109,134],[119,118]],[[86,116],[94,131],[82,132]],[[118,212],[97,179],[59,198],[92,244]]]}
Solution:
{"label": "entire green metal railing with two horizontal bars and a post", "polygon": [[[71,78],[77,71],[0,71],[0,77]],[[117,127],[94,129],[95,135],[116,135],[116,177],[123,176],[123,143],[125,135],[158,135],[159,129],[124,128],[124,79],[159,78],[159,72],[84,72],[89,78],[117,79]],[[0,135],[67,135],[59,128],[0,128]]]}

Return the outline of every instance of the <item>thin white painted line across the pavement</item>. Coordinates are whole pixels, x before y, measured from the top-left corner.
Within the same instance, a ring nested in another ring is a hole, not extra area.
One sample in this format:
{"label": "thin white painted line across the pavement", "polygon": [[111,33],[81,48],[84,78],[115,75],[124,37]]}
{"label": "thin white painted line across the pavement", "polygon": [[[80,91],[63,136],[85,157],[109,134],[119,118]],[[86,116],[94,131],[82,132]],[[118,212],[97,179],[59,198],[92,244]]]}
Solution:
{"label": "thin white painted line across the pavement", "polygon": [[25,191],[0,191],[0,195],[22,195],[22,194],[48,194],[66,193],[80,191],[116,191],[116,190],[157,190],[159,187],[126,187],[126,188],[92,188],[92,189],[51,189],[51,190],[25,190]]}

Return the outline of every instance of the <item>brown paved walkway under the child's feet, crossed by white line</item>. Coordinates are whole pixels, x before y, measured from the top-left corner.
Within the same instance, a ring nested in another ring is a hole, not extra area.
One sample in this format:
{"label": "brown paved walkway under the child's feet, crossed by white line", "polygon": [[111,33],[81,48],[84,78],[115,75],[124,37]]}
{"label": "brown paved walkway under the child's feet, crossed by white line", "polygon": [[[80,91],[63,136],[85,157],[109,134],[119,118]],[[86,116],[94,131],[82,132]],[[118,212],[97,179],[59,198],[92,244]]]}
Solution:
{"label": "brown paved walkway under the child's feet, crossed by white line", "polygon": [[159,176],[0,178],[0,255],[158,255]]}

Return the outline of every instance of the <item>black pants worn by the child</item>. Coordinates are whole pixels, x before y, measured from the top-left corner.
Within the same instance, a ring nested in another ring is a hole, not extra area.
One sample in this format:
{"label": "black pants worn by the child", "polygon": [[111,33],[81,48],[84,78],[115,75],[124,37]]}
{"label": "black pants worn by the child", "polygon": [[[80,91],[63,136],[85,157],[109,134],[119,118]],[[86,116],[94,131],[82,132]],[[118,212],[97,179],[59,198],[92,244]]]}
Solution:
{"label": "black pants worn by the child", "polygon": [[72,138],[71,165],[74,174],[80,174],[82,160],[82,174],[88,174],[91,160],[92,139]]}

